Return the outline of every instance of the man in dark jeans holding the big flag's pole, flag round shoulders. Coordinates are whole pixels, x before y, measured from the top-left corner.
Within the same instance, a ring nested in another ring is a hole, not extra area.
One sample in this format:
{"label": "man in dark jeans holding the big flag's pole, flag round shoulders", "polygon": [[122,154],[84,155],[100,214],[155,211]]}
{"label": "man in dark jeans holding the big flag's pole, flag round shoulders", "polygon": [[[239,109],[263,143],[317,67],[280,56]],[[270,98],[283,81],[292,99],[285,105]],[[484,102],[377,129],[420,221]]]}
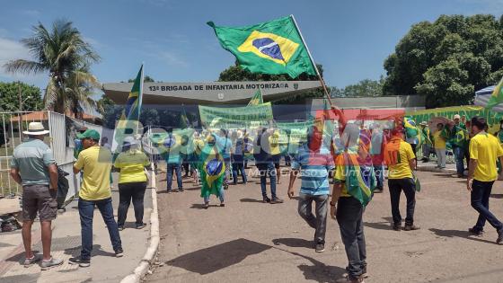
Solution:
{"label": "man in dark jeans holding the big flag's pole, flag round shoulders", "polygon": [[331,218],[337,219],[340,238],[348,257],[348,281],[364,282],[366,275],[366,241],[363,213],[375,189],[374,168],[365,161],[366,146],[359,141],[358,127],[347,124],[341,135],[344,145],[335,156],[335,173],[330,201]]}

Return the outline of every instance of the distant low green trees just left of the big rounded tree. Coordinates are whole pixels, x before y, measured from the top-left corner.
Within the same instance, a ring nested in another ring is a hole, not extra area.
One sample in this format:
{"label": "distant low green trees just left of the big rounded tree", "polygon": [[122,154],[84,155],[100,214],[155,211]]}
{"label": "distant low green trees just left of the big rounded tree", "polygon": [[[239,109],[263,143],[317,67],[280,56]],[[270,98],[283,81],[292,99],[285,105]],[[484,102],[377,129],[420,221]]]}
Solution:
{"label": "distant low green trees just left of the big rounded tree", "polygon": [[384,77],[379,81],[365,79],[344,88],[332,87],[331,97],[366,97],[383,95]]}

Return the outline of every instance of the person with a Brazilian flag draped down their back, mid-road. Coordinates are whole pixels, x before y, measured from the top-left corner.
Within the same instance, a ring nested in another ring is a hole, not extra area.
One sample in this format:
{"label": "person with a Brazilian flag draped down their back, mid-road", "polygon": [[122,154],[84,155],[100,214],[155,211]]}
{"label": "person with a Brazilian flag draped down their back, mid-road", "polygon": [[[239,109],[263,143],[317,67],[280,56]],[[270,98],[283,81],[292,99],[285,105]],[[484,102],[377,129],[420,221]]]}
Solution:
{"label": "person with a Brazilian flag draped down their back, mid-road", "polygon": [[216,145],[216,136],[207,136],[207,144],[199,156],[199,172],[201,174],[201,198],[203,208],[209,207],[209,197],[215,195],[220,199],[220,207],[225,207],[224,178],[225,163],[219,146]]}

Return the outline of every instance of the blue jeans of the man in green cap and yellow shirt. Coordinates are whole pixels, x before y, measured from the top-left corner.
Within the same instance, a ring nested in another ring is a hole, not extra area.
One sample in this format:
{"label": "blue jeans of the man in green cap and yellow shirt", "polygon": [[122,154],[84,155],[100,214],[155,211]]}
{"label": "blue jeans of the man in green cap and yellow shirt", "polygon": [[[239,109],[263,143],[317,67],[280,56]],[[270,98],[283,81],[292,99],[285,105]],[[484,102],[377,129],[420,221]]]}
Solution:
{"label": "blue jeans of the man in green cap and yellow shirt", "polygon": [[84,260],[91,259],[91,251],[93,250],[94,206],[100,209],[101,217],[103,217],[103,221],[109,229],[110,241],[113,247],[113,251],[122,252],[122,243],[120,242],[119,228],[117,226],[117,222],[115,222],[115,218],[113,217],[111,198],[101,200],[79,199],[78,208],[82,234],[82,251],[80,255]]}

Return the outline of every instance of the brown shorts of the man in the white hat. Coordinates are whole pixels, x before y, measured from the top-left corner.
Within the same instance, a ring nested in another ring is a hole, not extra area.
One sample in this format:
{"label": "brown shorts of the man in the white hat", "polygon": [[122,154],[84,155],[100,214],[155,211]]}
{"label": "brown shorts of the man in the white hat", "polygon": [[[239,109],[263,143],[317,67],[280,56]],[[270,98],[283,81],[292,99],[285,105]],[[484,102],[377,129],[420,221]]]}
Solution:
{"label": "brown shorts of the man in the white hat", "polygon": [[49,190],[49,185],[22,187],[22,220],[33,221],[39,212],[40,222],[56,219],[57,190]]}

